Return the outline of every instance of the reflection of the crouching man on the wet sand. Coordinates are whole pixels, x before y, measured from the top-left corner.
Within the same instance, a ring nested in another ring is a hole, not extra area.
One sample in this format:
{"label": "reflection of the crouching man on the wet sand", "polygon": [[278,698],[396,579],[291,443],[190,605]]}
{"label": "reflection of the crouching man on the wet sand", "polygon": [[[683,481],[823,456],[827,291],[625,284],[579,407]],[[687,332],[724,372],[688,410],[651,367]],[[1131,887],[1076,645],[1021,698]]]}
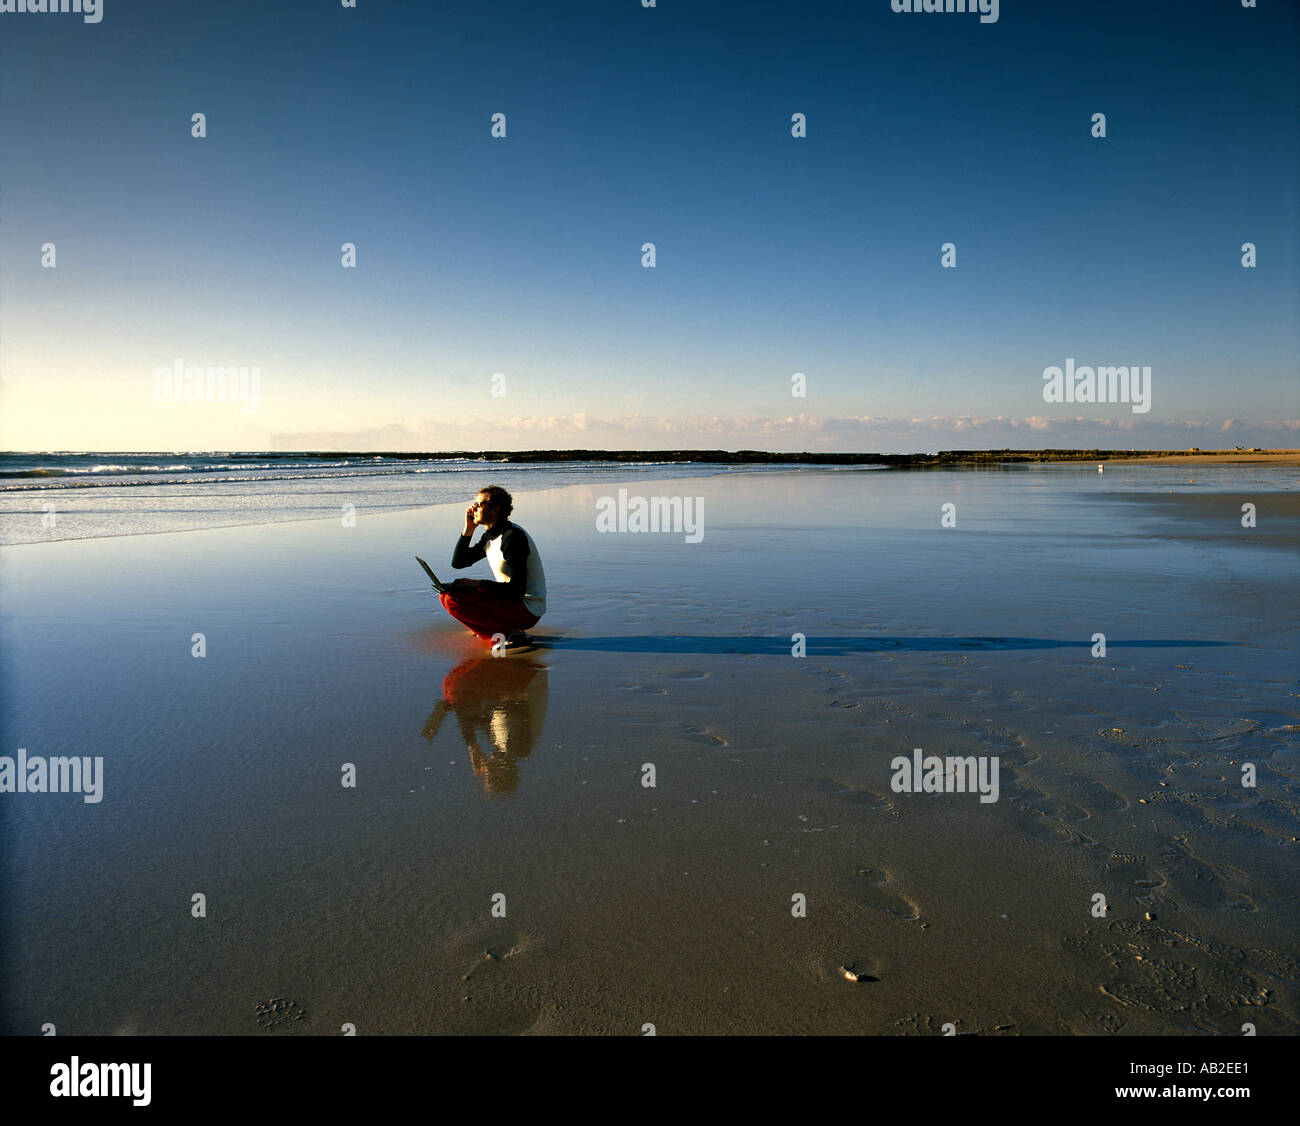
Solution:
{"label": "reflection of the crouching man on the wet sand", "polygon": [[504,793],[542,737],[547,694],[546,666],[532,654],[471,657],[443,677],[442,700],[420,733],[432,744],[454,713],[474,774],[488,793]]}

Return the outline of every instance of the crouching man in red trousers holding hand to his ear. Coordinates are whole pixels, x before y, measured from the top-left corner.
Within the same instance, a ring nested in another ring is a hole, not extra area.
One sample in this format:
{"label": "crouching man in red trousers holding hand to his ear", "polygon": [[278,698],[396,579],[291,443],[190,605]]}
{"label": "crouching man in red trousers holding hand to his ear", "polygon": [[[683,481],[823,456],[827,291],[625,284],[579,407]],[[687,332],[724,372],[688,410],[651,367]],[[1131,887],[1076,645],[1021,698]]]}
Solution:
{"label": "crouching man in red trousers holding hand to his ear", "polygon": [[[465,529],[456,541],[451,566],[462,571],[486,559],[495,581],[490,579],[458,579],[439,596],[443,609],[462,625],[491,641],[506,635],[506,648],[517,649],[530,638],[530,629],[546,612],[546,572],[533,537],[510,514],[515,503],[500,485],[480,489],[465,510]],[[488,530],[472,547],[474,525]]]}

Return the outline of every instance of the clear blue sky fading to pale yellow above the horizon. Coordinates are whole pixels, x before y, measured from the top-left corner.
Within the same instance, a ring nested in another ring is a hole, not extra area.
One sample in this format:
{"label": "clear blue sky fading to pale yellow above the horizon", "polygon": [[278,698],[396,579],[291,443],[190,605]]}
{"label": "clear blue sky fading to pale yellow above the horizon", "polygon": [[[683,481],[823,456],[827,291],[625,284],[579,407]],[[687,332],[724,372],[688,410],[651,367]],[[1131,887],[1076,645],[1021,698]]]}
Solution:
{"label": "clear blue sky fading to pale yellow above the horizon", "polygon": [[[1297,46],[1280,0],[4,12],[0,443],[1300,446]],[[256,410],[155,402],[177,358]],[[1067,358],[1149,412],[1044,402]]]}

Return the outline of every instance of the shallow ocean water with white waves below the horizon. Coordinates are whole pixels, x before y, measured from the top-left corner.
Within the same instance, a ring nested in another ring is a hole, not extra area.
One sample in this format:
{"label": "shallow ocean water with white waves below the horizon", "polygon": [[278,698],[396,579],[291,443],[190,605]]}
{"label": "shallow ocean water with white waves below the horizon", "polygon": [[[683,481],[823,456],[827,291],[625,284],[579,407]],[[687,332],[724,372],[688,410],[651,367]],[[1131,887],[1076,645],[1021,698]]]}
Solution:
{"label": "shallow ocean water with white waves below the horizon", "polygon": [[[1017,464],[984,467],[979,472],[985,476],[979,480],[1005,484],[998,503],[1013,506],[1030,497],[1041,498],[1043,490],[1057,489],[1086,497],[1106,491],[1206,491],[1225,481],[1242,489],[1300,488],[1300,471],[1271,465],[1152,463],[1112,464],[1104,473],[1095,471],[1095,465],[1071,463]],[[836,472],[861,476],[880,471],[862,465],[837,469],[671,462],[526,464],[481,458],[273,452],[0,454],[0,545],[328,520],[347,512],[378,515],[454,503],[485,484],[515,491],[719,473]],[[907,471],[894,471],[898,472]],[[916,472],[932,477],[937,471]],[[974,480],[962,476],[968,472],[957,471],[952,480]]]}

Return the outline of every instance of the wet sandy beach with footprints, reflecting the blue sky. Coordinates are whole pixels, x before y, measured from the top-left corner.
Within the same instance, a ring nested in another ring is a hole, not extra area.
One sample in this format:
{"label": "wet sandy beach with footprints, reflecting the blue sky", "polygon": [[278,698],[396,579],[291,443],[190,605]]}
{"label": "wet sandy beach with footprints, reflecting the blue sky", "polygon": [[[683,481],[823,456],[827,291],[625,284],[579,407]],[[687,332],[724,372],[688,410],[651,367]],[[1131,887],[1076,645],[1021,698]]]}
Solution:
{"label": "wet sandy beach with footprints, reflecting the blue sky", "polygon": [[[4,753],[104,792],[6,797],[4,1031],[1295,1034],[1297,485],[521,488],[506,657],[413,559],[463,506],[5,547]],[[619,488],[702,538],[598,533]]]}

